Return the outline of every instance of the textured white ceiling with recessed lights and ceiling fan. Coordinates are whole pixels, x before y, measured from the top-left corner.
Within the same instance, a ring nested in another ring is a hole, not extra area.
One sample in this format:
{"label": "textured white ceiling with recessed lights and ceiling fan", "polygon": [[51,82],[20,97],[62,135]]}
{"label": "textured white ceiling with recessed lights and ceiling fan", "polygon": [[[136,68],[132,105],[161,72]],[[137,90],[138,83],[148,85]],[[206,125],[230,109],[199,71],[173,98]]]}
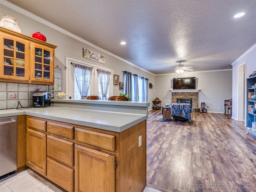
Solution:
{"label": "textured white ceiling with recessed lights and ceiling fan", "polygon": [[153,74],[230,69],[256,44],[256,0],[8,1]]}

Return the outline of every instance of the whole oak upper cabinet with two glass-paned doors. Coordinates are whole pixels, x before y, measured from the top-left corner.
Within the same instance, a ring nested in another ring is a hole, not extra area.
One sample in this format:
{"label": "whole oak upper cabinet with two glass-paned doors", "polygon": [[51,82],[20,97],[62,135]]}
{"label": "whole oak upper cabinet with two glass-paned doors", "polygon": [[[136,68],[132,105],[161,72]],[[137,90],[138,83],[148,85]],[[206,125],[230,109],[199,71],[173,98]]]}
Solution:
{"label": "whole oak upper cabinet with two glass-paned doors", "polygon": [[56,47],[0,27],[0,81],[54,84]]}

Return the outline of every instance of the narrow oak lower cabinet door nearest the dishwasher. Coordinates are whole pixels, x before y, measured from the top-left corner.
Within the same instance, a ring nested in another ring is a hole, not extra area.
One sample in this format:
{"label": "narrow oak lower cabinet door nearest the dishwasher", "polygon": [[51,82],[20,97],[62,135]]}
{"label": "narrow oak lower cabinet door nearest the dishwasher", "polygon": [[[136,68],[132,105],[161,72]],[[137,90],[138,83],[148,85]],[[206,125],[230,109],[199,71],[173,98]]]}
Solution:
{"label": "narrow oak lower cabinet door nearest the dishwasher", "polygon": [[27,129],[26,164],[46,176],[46,134]]}

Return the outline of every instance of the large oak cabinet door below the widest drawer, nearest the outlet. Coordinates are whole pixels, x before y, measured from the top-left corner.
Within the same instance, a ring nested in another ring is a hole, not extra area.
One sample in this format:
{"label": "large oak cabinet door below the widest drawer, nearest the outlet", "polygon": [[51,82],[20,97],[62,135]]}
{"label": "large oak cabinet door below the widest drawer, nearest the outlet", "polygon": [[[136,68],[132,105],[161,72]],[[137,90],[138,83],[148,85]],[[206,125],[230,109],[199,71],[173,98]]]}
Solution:
{"label": "large oak cabinet door below the widest drawer, nearest the outlet", "polygon": [[75,145],[75,192],[114,192],[114,156]]}

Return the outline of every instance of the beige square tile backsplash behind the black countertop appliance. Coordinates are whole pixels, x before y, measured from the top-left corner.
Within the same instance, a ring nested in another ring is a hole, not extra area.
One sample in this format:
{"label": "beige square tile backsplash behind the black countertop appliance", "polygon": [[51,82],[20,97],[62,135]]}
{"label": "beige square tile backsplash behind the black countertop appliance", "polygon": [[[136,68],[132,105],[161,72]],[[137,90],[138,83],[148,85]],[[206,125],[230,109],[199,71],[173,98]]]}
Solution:
{"label": "beige square tile backsplash behind the black countertop appliance", "polygon": [[[19,102],[23,107],[32,106],[33,92],[41,89],[49,91],[51,87],[50,85],[0,82],[0,110],[15,109]],[[21,108],[21,106],[18,106],[18,108]]]}

